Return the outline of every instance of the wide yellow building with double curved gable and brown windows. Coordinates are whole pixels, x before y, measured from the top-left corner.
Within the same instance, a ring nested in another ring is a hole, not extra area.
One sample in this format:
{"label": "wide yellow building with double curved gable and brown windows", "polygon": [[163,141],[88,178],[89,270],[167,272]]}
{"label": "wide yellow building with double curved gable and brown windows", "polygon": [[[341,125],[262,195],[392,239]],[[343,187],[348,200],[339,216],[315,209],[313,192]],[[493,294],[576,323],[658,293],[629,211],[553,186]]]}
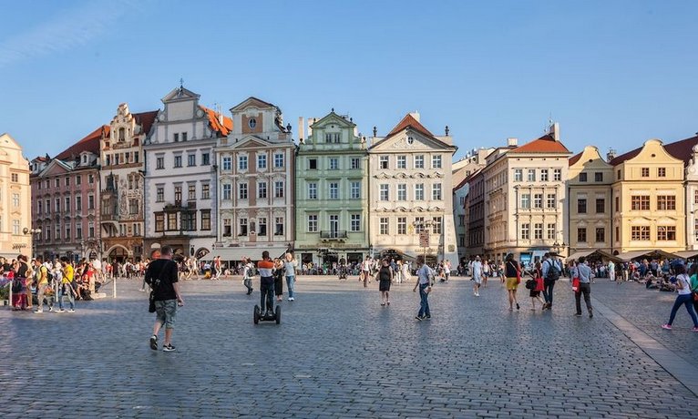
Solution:
{"label": "wide yellow building with double curved gable and brown windows", "polygon": [[685,250],[683,160],[650,139],[613,158],[611,166],[613,251]]}

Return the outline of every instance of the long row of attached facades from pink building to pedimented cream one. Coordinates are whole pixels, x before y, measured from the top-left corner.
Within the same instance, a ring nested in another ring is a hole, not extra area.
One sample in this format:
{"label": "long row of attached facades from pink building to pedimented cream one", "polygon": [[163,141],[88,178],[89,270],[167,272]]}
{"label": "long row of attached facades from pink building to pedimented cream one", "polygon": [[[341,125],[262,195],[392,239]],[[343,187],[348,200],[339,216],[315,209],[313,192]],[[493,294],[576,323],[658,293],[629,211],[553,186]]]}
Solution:
{"label": "long row of attached facades from pink building to pedimented cream one", "polygon": [[367,138],[333,110],[301,119],[294,140],[281,109],[255,97],[231,118],[182,86],[162,103],[141,113],[121,104],[56,157],[31,160],[22,225],[41,231],[36,254],[138,260],[167,244],[224,261],[293,249],[320,263],[422,252],[457,263],[457,148],[418,114]]}

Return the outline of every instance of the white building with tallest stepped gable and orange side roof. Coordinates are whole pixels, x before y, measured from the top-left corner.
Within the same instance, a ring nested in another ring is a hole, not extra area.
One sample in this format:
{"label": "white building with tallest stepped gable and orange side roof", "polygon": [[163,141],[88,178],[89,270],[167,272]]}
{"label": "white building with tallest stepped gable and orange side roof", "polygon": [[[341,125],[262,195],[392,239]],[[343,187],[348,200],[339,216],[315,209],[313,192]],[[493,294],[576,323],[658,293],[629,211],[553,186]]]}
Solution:
{"label": "white building with tallest stepped gable and orange side roof", "polygon": [[145,158],[145,253],[170,245],[201,257],[216,240],[216,165],[213,149],[228,135],[231,118],[199,105],[199,95],[178,87],[162,98]]}

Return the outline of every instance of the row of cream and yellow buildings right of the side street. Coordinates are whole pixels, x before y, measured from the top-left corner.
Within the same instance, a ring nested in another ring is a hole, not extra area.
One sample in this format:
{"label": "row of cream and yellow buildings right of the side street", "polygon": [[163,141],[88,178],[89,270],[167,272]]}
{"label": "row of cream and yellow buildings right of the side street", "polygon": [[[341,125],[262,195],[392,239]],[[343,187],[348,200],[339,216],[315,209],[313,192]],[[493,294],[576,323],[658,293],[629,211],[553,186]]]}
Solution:
{"label": "row of cream and yellow buildings right of the side street", "polygon": [[698,137],[650,139],[621,156],[579,154],[559,142],[557,124],[523,146],[509,138],[489,152],[467,186],[469,255],[531,261],[553,250],[567,256],[661,249],[698,250]]}

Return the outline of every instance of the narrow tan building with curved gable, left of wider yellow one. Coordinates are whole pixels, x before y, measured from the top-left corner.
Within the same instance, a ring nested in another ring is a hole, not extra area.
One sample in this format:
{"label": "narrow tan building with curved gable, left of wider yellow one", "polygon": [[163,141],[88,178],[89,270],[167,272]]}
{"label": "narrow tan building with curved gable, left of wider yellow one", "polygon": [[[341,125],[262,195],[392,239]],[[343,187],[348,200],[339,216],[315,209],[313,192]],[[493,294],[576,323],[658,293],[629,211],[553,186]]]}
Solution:
{"label": "narrow tan building with curved gable, left of wider yellow one", "polygon": [[570,158],[568,208],[570,255],[587,250],[611,251],[611,183],[613,167],[587,146]]}

